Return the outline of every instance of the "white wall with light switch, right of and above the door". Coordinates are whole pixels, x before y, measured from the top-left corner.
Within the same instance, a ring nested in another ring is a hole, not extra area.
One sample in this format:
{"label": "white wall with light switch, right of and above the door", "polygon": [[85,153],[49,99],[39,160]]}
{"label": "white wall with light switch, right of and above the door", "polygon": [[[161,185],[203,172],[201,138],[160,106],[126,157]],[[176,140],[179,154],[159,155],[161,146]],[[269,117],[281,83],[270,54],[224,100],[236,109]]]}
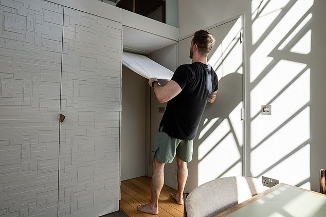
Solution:
{"label": "white wall with light switch, right of and above the door", "polygon": [[[319,191],[326,167],[325,9],[322,0],[179,0],[180,38],[244,15],[247,176]],[[271,104],[270,116],[260,114],[264,104]]]}

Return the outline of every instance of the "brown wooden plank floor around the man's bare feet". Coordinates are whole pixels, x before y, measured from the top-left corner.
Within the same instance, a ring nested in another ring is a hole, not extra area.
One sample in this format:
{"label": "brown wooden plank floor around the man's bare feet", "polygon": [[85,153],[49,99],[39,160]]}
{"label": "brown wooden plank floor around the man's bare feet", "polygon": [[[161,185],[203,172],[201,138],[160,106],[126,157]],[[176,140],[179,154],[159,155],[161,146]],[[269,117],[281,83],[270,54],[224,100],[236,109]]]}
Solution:
{"label": "brown wooden plank floor around the man's bare feet", "polygon": [[159,196],[158,215],[142,213],[137,210],[139,204],[147,204],[151,197],[151,178],[142,176],[121,182],[120,210],[129,216],[178,216],[182,217],[184,206],[170,198],[176,190],[164,186]]}

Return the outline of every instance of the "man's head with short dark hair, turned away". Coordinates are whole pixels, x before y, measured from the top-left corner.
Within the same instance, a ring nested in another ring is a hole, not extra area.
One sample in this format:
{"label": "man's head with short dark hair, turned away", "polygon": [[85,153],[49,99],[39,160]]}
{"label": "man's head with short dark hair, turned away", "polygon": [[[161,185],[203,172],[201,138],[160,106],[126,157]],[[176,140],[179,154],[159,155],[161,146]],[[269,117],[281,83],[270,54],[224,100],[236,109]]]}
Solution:
{"label": "man's head with short dark hair, turned away", "polygon": [[206,30],[198,30],[193,35],[192,43],[198,47],[200,55],[208,55],[215,44],[215,38]]}

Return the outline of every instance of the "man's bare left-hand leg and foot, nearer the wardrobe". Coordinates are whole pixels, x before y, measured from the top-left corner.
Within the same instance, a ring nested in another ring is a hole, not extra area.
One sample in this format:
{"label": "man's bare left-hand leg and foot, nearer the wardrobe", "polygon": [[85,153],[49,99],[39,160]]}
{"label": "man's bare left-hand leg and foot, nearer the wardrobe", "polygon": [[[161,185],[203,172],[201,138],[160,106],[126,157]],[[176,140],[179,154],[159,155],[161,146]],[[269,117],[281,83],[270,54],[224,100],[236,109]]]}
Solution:
{"label": "man's bare left-hand leg and foot, nearer the wardrobe", "polygon": [[164,163],[153,159],[153,174],[151,183],[151,201],[149,204],[138,205],[139,211],[158,214],[158,197],[164,185]]}

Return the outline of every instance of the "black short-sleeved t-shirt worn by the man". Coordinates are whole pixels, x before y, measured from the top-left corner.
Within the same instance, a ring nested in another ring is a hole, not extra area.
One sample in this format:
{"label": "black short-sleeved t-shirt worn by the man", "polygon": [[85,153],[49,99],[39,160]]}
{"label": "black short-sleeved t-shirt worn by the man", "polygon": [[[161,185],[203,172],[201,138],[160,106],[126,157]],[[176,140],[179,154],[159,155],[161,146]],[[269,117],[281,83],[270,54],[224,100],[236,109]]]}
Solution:
{"label": "black short-sleeved t-shirt worn by the man", "polygon": [[177,139],[194,139],[209,95],[218,89],[218,76],[210,65],[180,65],[172,79],[182,91],[168,102],[162,131]]}

